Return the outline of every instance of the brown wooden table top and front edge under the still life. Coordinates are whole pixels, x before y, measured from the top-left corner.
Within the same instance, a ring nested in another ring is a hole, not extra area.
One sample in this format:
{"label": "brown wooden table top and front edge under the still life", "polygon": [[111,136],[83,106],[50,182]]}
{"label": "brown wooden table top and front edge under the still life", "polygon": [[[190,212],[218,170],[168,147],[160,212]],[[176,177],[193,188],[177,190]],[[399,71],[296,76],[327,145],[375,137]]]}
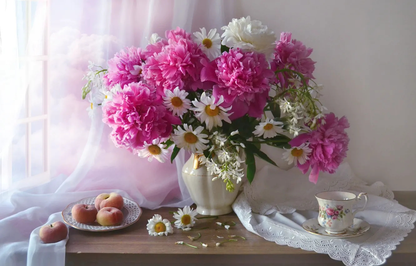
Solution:
{"label": "brown wooden table top and front edge under the still life", "polygon": [[[416,191],[396,191],[395,198],[404,206],[416,209]],[[277,245],[247,231],[238,220],[235,213],[220,216],[218,219],[203,219],[198,221],[195,228],[209,226],[201,231],[174,230],[168,237],[149,236],[146,230],[147,219],[154,213],[172,221],[175,208],[160,208],[158,210],[143,210],[139,221],[117,231],[88,232],[74,228],[69,229],[69,241],[66,246],[67,266],[133,266],[133,265],[311,265],[311,266],[341,266],[341,261],[329,258],[327,254],[305,251],[300,248]],[[235,221],[230,230],[217,226],[215,222]],[[187,236],[201,238],[191,241]],[[235,242],[227,242],[215,246],[228,235],[243,236]],[[218,238],[223,236],[224,238]],[[177,245],[176,241],[198,246],[191,248]],[[208,247],[202,247],[201,243]],[[385,265],[414,266],[416,265],[416,233],[409,236],[393,251],[393,256],[387,259]]]}

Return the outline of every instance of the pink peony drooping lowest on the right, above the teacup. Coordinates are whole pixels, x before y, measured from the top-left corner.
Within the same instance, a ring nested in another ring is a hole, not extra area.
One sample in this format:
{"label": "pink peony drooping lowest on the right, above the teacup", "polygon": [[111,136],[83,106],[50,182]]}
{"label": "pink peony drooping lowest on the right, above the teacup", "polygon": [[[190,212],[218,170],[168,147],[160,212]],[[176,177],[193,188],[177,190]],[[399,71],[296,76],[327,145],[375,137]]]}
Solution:
{"label": "pink peony drooping lowest on the right, above the teacup", "polygon": [[349,128],[347,118],[343,116],[338,119],[334,113],[329,113],[324,120],[324,125],[312,132],[300,134],[289,142],[292,147],[297,147],[309,141],[309,148],[312,149],[310,159],[297,167],[302,173],[306,173],[311,167],[309,181],[315,184],[319,171],[335,173],[339,164],[347,157],[348,151],[349,138],[345,132],[345,128]]}

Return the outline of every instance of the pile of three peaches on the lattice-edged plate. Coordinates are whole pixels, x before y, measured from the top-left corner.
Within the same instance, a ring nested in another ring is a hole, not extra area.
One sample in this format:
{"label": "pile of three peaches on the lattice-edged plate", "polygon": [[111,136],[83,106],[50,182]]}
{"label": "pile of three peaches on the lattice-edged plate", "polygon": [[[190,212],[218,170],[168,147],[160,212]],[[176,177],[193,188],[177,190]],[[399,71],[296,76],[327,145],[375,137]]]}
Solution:
{"label": "pile of three peaches on the lattice-edged plate", "polygon": [[75,204],[72,218],[79,223],[94,223],[102,226],[114,226],[123,221],[123,197],[117,193],[102,193],[95,198],[95,205]]}

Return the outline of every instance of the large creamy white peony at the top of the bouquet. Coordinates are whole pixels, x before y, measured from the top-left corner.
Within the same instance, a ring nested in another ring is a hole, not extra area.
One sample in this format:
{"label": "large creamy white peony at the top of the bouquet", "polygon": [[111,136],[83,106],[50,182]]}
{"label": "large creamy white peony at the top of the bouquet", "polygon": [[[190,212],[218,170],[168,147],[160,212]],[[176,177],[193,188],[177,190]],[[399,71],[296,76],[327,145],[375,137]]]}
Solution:
{"label": "large creamy white peony at the top of the bouquet", "polygon": [[221,30],[225,30],[221,35],[222,45],[264,53],[267,58],[271,58],[274,52],[275,33],[262,25],[260,20],[250,20],[250,16],[233,18],[228,26],[224,26]]}

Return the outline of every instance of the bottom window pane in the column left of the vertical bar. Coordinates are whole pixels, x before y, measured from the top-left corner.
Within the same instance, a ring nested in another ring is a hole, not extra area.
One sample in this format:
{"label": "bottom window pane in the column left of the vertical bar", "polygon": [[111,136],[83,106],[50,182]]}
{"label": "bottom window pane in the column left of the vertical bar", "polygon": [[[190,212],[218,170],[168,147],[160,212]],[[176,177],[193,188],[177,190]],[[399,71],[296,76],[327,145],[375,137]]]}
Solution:
{"label": "bottom window pane in the column left of the vertical bar", "polygon": [[12,183],[26,177],[26,126],[17,126],[12,142]]}

